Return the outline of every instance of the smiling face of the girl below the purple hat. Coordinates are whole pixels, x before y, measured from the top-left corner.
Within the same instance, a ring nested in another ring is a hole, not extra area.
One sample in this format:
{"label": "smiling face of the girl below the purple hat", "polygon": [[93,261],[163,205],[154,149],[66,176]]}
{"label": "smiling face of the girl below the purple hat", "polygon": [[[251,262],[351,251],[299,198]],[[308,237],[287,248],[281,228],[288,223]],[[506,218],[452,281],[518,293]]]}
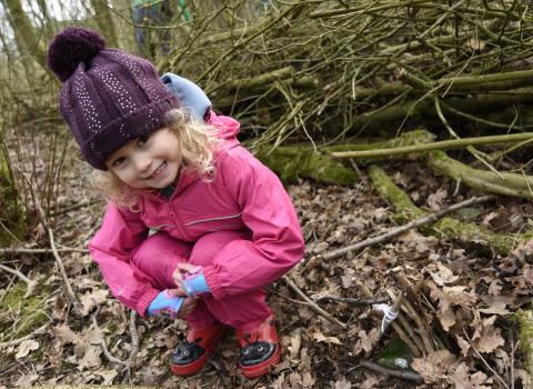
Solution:
{"label": "smiling face of the girl below the purple hat", "polygon": [[131,188],[162,189],[174,182],[182,161],[178,137],[163,128],[122,146],[105,166]]}

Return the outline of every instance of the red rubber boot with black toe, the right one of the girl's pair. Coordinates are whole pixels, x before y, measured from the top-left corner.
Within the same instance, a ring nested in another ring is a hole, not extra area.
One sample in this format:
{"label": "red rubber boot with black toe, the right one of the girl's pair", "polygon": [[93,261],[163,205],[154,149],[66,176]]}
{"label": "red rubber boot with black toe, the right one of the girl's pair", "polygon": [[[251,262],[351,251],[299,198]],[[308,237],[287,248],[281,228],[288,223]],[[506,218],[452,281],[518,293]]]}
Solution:
{"label": "red rubber boot with black toe, the right one of the girl's pair", "polygon": [[237,339],[241,346],[239,366],[244,377],[261,377],[280,362],[281,351],[273,313],[255,328],[238,329]]}

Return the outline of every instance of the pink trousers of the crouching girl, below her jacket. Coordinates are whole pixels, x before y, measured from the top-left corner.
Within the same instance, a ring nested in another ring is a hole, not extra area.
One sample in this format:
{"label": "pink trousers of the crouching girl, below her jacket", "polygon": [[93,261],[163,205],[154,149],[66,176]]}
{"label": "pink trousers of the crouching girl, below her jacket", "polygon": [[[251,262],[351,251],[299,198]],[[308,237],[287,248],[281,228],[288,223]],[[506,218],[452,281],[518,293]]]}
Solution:
{"label": "pink trousers of the crouching girl, below her jacket", "polygon": [[[195,242],[183,242],[165,232],[158,232],[145,239],[132,258],[132,265],[151,278],[151,285],[159,290],[175,288],[172,272],[179,262],[210,265],[214,256],[234,239],[250,239],[241,231],[220,231],[201,237]],[[262,322],[271,309],[266,305],[266,292],[227,296],[215,300],[207,296],[198,301],[194,311],[187,317],[191,327],[203,327],[220,321],[224,325],[249,329]]]}

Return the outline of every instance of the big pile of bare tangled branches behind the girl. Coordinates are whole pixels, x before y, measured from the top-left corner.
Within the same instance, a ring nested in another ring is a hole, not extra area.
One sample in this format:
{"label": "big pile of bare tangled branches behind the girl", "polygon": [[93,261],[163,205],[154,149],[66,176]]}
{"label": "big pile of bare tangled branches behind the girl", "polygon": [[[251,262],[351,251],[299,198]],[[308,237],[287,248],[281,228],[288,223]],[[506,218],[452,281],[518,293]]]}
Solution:
{"label": "big pile of bare tangled branches behind the girl", "polygon": [[253,148],[532,124],[525,1],[273,1],[248,20],[243,3],[197,19],[160,69],[202,86]]}

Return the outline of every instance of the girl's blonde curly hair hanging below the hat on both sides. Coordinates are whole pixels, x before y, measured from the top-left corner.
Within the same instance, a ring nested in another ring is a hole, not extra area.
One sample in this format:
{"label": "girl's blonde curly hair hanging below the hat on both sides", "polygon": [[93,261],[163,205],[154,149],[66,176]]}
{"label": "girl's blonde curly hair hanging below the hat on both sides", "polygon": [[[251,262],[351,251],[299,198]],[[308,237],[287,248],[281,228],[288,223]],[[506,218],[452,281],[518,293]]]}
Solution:
{"label": "girl's blonde curly hair hanging below the hat on both sides", "polygon": [[[164,128],[178,138],[183,157],[182,168],[195,170],[203,181],[212,181],[215,172],[213,153],[220,141],[217,129],[197,119],[185,108],[170,110],[164,120]],[[130,208],[135,206],[139,192],[143,190],[129,187],[111,170],[95,170],[93,186],[101,194],[112,198],[118,206]]]}

